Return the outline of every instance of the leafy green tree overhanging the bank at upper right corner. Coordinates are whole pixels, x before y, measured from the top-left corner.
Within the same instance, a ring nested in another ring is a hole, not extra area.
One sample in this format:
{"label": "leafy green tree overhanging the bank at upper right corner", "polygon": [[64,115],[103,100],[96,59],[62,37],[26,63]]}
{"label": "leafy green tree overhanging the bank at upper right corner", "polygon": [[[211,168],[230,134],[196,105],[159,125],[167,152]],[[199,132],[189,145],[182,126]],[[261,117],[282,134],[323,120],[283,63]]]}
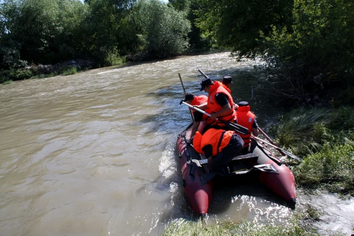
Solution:
{"label": "leafy green tree overhanging the bank at upper right corner", "polygon": [[352,1],[296,0],[291,21],[263,35],[264,58],[276,69],[272,86],[300,103],[337,88],[331,96],[354,105]]}

